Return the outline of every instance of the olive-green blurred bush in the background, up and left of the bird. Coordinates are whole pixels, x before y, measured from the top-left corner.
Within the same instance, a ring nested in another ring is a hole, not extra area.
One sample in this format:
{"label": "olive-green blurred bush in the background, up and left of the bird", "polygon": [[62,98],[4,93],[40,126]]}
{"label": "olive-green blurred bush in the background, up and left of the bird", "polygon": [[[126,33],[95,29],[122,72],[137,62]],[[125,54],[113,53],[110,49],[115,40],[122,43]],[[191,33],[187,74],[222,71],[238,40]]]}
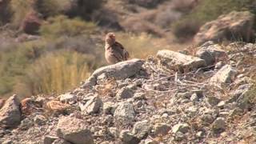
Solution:
{"label": "olive-green blurred bush in the background, up and left of the bird", "polygon": [[81,34],[90,34],[96,28],[93,22],[84,22],[79,18],[69,19],[63,15],[49,18],[48,22],[42,25],[39,30],[46,38],[59,38],[61,36],[73,37]]}

